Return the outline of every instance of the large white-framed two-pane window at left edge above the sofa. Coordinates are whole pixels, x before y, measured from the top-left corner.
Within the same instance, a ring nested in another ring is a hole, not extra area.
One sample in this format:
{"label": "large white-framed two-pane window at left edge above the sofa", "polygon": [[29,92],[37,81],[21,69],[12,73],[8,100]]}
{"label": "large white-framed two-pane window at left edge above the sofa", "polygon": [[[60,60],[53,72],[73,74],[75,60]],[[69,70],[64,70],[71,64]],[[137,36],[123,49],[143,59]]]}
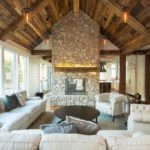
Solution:
{"label": "large white-framed two-pane window at left edge above the sofa", "polygon": [[27,90],[28,58],[2,46],[0,58],[0,95]]}

